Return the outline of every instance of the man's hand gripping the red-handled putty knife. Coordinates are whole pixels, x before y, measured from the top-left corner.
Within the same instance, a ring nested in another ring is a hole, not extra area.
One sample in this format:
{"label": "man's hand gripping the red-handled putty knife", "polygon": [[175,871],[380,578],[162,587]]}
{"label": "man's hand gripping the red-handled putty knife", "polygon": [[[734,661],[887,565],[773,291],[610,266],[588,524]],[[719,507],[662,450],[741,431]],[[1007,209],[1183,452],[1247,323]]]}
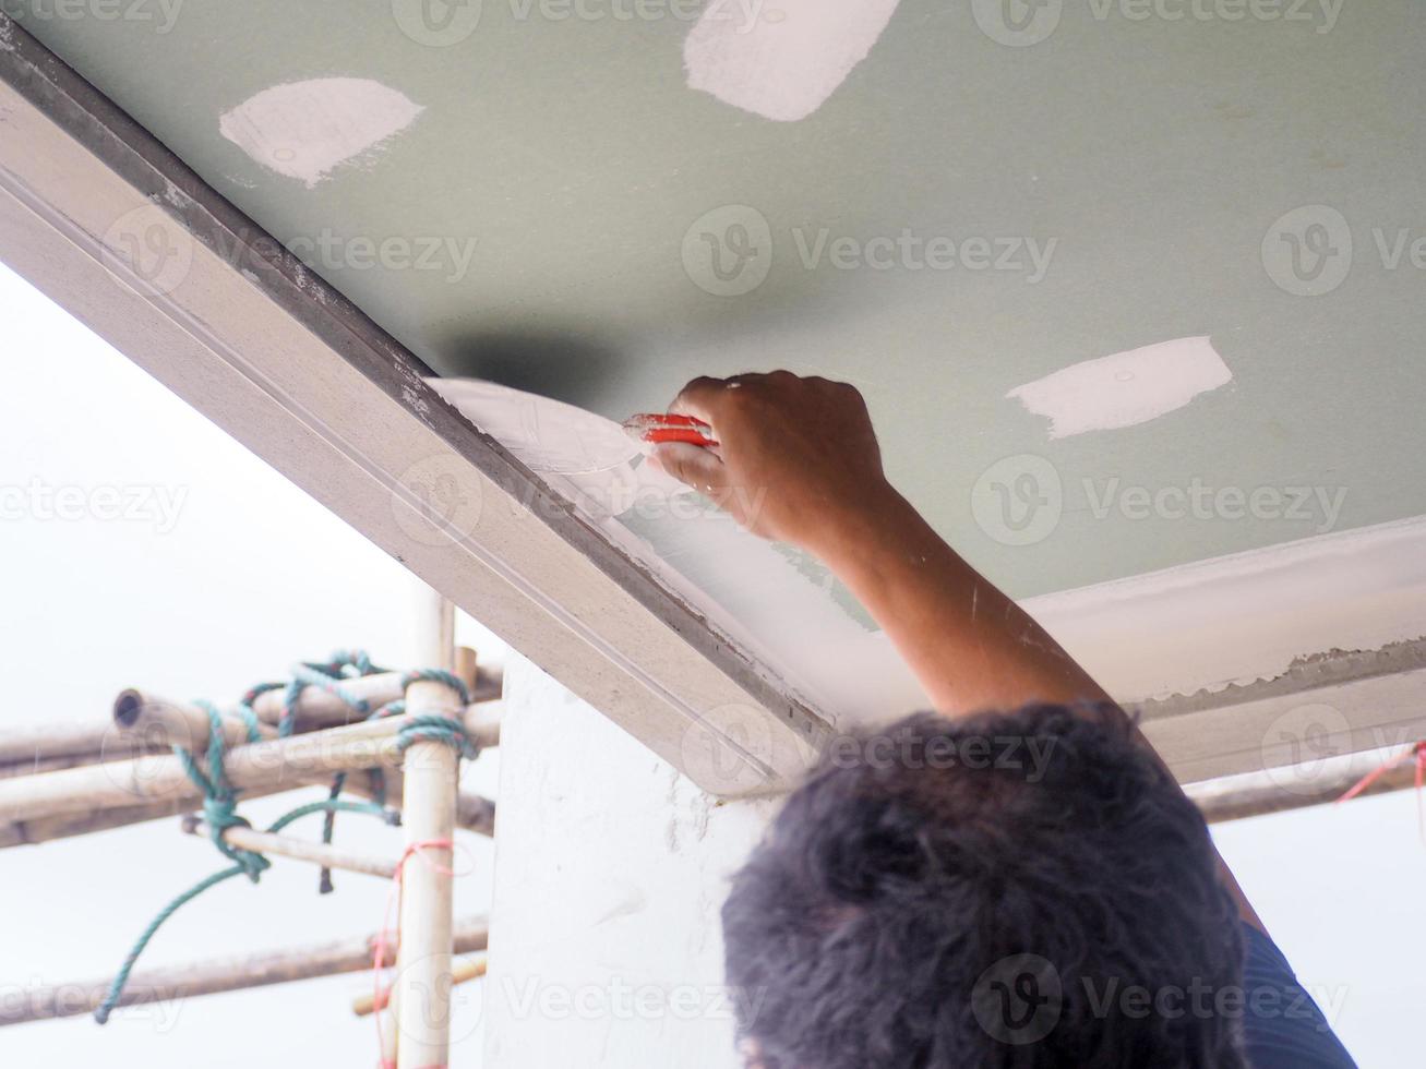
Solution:
{"label": "man's hand gripping the red-handled putty knife", "polygon": [[712,425],[719,446],[660,445],[655,462],[754,534],[820,553],[890,492],[866,402],[844,382],[694,379],[669,412]]}

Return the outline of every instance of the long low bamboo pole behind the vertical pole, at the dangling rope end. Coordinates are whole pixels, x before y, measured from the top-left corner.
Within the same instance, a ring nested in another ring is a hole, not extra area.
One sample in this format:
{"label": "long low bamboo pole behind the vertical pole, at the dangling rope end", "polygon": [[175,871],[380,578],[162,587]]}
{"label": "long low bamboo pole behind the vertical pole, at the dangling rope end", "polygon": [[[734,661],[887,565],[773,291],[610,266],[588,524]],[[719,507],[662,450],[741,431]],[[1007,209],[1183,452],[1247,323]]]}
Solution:
{"label": "long low bamboo pole behind the vertical pole, at the dangling rope end", "polygon": [[[459,954],[483,951],[489,925],[483,916],[471,916],[455,925],[453,944]],[[375,936],[339,939],[298,949],[267,951],[230,958],[212,958],[190,965],[160,966],[135,972],[118,1001],[134,1006],[170,999],[217,995],[272,983],[337,976],[372,968]],[[388,954],[396,949],[396,936],[388,939]],[[386,961],[384,965],[389,965]],[[56,983],[29,991],[9,991],[0,996],[0,1026],[27,1021],[47,1021],[91,1013],[108,993],[111,978],[78,983]]]}

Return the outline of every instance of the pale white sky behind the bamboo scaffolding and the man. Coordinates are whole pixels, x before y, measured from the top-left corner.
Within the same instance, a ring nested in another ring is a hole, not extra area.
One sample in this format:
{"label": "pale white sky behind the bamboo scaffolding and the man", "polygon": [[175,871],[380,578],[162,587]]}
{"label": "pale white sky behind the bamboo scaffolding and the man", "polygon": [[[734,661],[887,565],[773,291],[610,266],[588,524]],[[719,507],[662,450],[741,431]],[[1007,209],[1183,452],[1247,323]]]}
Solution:
{"label": "pale white sky behind the bamboo scaffolding and the man", "polygon": [[[117,691],[230,704],[294,660],[364,647],[414,661],[418,582],[143,371],[0,265],[0,731],[103,721]],[[36,483],[34,480],[39,480]],[[30,506],[81,487],[98,507],[60,517]],[[16,493],[11,487],[21,487]],[[106,517],[100,487],[165,507]],[[26,502],[16,515],[16,502]],[[502,647],[463,619],[461,639]],[[468,771],[496,794],[498,751]],[[242,807],[258,822],[295,795]],[[1410,792],[1219,825],[1215,838],[1299,979],[1363,1066],[1419,1063],[1419,902],[1426,845]],[[110,975],[150,916],[224,867],[177,821],[0,851],[0,995]],[[315,828],[315,822],[308,825]],[[399,832],[338,820],[338,842],[395,852]],[[493,848],[465,838],[458,914],[489,904]],[[230,881],[185,907],[143,966],[375,931],[382,881],[277,861],[254,887]],[[251,1069],[369,1065],[369,1019],[349,1011],[369,975],[338,976],[167,1008],[0,1029],[0,1063]],[[479,1065],[479,985],[459,988],[452,1065]],[[732,1063],[732,1059],[730,1059]]]}

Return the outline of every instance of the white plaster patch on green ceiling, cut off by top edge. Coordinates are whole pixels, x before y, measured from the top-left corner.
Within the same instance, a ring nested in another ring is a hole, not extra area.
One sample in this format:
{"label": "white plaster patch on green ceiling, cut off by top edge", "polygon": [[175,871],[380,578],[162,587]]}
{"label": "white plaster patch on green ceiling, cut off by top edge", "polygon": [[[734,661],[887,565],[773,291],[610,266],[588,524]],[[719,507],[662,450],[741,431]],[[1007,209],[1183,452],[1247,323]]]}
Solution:
{"label": "white plaster patch on green ceiling, cut off by top edge", "polygon": [[683,43],[689,88],[779,123],[827,103],[898,0],[713,0]]}

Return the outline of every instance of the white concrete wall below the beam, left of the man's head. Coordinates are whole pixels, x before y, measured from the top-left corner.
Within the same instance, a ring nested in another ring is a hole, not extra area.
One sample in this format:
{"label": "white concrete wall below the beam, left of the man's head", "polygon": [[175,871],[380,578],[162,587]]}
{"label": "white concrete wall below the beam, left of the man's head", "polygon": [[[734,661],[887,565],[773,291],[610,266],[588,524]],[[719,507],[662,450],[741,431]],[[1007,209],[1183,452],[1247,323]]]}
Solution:
{"label": "white concrete wall below the beam, left of the man's head", "polygon": [[717,802],[512,654],[486,1065],[734,1069],[719,909],[771,801]]}

